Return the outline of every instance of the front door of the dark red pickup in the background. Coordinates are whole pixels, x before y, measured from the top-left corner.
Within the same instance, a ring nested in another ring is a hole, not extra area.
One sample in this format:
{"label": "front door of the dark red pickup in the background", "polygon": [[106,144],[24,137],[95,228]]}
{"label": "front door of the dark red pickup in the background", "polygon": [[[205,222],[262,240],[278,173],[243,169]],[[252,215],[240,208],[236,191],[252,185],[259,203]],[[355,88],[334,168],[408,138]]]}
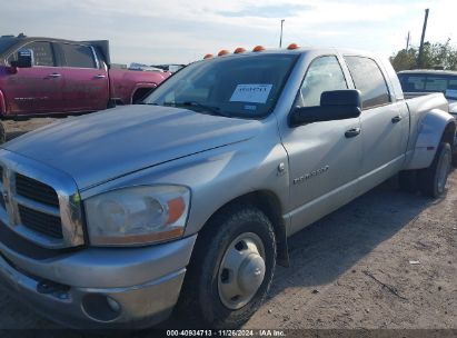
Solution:
{"label": "front door of the dark red pickup in the background", "polygon": [[[2,88],[9,111],[13,115],[58,112],[62,108],[62,77],[49,41],[34,41],[22,46],[33,53],[31,68],[18,68],[7,76]],[[17,51],[8,58],[14,60]]]}

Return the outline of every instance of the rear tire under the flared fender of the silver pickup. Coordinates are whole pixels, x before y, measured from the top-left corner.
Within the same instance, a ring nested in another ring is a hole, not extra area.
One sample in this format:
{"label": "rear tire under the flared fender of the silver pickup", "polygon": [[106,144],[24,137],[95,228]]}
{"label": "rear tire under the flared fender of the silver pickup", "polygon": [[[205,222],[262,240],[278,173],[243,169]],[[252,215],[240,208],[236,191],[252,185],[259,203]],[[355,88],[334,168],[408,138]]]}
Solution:
{"label": "rear tire under the flared fender of the silver pickup", "polygon": [[425,196],[438,198],[445,193],[451,159],[450,145],[441,142],[430,167],[419,171],[419,188]]}

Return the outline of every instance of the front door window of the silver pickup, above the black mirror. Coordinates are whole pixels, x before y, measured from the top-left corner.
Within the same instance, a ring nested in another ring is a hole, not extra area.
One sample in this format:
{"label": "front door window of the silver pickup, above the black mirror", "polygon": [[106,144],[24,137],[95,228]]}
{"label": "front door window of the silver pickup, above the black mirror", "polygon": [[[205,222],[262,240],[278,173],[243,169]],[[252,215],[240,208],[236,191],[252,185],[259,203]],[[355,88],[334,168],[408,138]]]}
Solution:
{"label": "front door window of the silver pickup, above the black mirror", "polygon": [[301,84],[296,107],[320,106],[324,91],[347,89],[345,74],[335,56],[320,57],[311,62]]}

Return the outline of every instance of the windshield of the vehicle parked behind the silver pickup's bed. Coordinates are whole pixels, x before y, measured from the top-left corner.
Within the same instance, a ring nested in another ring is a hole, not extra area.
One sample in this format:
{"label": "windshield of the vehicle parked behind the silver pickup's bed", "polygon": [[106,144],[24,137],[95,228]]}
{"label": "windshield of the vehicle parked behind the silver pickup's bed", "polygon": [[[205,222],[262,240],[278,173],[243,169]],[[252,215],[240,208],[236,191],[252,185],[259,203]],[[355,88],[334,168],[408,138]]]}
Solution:
{"label": "windshield of the vehicle parked behind the silver pickup's bed", "polygon": [[443,92],[448,100],[457,100],[457,74],[399,73],[404,92]]}

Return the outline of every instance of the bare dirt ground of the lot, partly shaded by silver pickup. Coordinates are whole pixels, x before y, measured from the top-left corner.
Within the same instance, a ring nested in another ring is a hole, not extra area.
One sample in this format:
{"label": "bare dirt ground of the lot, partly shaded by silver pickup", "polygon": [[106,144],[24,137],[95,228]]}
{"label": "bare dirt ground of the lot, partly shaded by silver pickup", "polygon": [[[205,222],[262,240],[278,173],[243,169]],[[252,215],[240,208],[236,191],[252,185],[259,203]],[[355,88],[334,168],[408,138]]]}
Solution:
{"label": "bare dirt ground of the lot, partly shaded by silver pickup", "polygon": [[[457,172],[440,200],[391,180],[306,228],[245,328],[457,329],[456,206]],[[0,304],[0,328],[59,327],[6,294]]]}

